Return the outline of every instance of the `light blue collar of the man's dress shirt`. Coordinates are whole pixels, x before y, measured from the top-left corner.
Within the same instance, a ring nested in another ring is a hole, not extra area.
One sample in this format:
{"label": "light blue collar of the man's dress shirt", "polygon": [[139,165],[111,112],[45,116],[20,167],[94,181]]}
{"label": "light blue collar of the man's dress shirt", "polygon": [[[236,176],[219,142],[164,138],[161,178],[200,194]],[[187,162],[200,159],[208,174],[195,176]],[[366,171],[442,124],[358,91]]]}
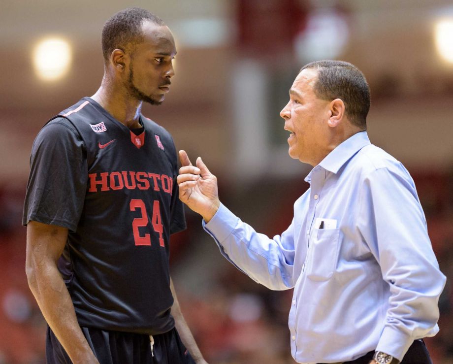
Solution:
{"label": "light blue collar of the man's dress shirt", "polygon": [[[368,138],[367,132],[357,132],[327,154],[327,156],[320,162],[319,166],[336,174],[340,168],[351,159],[351,157],[353,157],[365,145],[369,144],[371,144],[371,142]],[[309,182],[311,180],[311,174],[315,168],[310,171],[308,176],[305,178],[305,181]]]}

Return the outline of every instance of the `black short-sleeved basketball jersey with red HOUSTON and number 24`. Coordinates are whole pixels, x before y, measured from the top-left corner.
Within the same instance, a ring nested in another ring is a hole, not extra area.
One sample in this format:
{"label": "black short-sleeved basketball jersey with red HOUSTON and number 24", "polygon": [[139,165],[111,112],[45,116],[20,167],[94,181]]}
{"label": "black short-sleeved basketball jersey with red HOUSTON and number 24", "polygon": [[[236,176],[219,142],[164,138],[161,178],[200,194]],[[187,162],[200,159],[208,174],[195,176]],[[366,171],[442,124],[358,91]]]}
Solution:
{"label": "black short-sleeved basketball jersey with red HOUSTON and number 24", "polygon": [[186,227],[171,135],[136,135],[95,100],[51,119],[32,147],[23,223],[69,229],[59,262],[81,326],[159,334],[174,326],[169,236]]}

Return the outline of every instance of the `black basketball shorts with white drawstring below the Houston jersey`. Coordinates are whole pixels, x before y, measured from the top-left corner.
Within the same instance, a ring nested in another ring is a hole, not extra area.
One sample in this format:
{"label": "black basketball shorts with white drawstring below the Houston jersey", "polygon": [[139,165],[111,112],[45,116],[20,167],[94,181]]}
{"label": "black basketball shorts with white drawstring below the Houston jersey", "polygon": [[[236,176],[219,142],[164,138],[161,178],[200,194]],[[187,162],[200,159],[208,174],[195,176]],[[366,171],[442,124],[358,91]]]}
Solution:
{"label": "black basketball shorts with white drawstring below the Houston jersey", "polygon": [[[100,364],[194,364],[176,329],[160,335],[105,331],[82,327]],[[151,345],[151,338],[154,345]],[[65,349],[47,327],[47,364],[71,364]]]}

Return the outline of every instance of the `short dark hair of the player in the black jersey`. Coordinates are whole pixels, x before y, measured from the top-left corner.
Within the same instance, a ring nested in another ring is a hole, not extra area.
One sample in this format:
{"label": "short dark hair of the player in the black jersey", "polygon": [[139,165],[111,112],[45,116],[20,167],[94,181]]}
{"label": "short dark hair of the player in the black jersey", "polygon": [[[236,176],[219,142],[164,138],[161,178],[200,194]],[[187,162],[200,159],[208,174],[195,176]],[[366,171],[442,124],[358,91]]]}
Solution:
{"label": "short dark hair of the player in the black jersey", "polygon": [[115,49],[126,50],[143,42],[142,24],[149,20],[165,25],[161,18],[140,7],[129,7],[113,15],[102,28],[102,55],[107,63]]}

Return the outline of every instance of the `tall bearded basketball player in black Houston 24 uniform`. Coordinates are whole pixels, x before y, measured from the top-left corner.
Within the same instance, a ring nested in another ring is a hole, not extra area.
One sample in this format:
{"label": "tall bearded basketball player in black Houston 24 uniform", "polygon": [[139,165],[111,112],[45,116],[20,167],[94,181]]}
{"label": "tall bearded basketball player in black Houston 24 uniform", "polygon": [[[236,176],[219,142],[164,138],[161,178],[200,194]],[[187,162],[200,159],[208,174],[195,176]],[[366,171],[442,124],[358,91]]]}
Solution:
{"label": "tall bearded basketball player in black Houston 24 uniform", "polygon": [[169,275],[170,234],[186,227],[175,146],[141,114],[169,91],[173,35],[128,8],[104,25],[102,51],[95,95],[32,147],[26,269],[49,325],[47,363],[205,363]]}

